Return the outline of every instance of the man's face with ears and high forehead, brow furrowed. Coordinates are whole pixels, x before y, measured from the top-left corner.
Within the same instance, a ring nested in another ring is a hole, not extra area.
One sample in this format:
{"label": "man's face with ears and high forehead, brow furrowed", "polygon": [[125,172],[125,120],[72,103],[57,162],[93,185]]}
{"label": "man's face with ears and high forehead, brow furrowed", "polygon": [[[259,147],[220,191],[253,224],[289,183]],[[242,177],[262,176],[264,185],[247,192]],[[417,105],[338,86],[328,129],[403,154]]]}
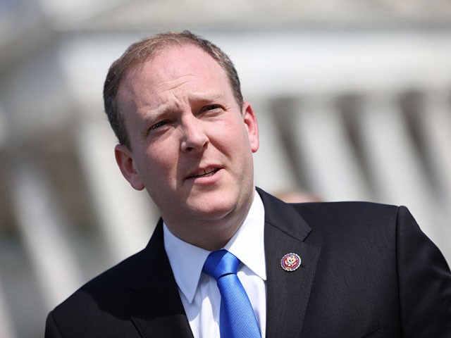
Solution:
{"label": "man's face with ears and high forehead, brow furrowed", "polygon": [[171,231],[247,213],[257,120],[211,56],[168,46],[128,73],[118,107],[131,149],[116,146],[116,161],[132,187],[147,189]]}

